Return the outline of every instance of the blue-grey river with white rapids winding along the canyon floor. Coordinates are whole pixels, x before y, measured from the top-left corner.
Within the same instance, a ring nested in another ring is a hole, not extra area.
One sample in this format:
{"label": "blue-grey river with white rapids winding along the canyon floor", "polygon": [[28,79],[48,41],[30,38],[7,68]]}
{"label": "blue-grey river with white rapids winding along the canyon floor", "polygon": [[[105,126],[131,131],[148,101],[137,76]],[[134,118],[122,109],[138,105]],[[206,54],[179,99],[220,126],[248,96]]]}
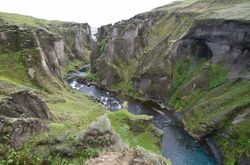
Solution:
{"label": "blue-grey river with white rapids winding along the canyon floor", "polygon": [[153,124],[164,131],[162,154],[173,165],[216,165],[215,159],[183,129],[175,115],[158,104],[118,96],[94,85],[79,84],[74,78],[68,82],[73,89],[99,100],[110,111],[120,110],[122,105],[126,105],[132,114],[153,116]]}

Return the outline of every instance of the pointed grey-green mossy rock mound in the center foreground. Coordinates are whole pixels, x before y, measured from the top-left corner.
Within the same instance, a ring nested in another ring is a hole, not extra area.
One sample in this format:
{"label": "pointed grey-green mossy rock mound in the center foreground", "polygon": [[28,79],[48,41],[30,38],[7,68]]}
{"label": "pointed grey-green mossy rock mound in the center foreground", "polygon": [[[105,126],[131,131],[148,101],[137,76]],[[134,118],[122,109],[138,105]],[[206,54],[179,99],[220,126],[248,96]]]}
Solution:
{"label": "pointed grey-green mossy rock mound in the center foreground", "polygon": [[[73,141],[73,142],[72,142]],[[99,117],[87,129],[78,132],[74,139],[59,136],[50,141],[40,141],[39,146],[52,145],[51,155],[61,157],[95,157],[100,152],[120,152],[128,145],[115,133],[107,115]]]}

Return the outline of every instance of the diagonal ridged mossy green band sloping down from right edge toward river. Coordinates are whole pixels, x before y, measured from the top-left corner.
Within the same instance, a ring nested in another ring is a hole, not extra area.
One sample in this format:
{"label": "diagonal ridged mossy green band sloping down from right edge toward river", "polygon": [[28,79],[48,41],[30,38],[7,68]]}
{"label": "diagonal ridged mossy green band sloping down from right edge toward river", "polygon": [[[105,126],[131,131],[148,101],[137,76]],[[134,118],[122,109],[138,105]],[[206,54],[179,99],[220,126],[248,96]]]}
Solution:
{"label": "diagonal ridged mossy green band sloping down from right edge toward river", "polygon": [[[224,88],[221,90],[221,88]],[[219,86],[203,96],[187,111],[185,120],[192,132],[205,131],[201,124],[216,124],[222,128],[231,116],[250,105],[250,84],[248,82],[229,83]],[[188,119],[188,120],[187,120]],[[213,123],[213,121],[216,121]]]}

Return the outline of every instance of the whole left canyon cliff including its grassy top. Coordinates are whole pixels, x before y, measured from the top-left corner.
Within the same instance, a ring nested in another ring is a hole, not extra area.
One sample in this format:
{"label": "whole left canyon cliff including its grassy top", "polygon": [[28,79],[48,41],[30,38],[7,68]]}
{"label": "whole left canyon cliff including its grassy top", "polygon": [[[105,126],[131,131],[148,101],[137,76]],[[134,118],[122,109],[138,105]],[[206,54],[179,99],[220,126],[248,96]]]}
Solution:
{"label": "whole left canyon cliff including its grassy top", "polygon": [[0,75],[52,92],[62,87],[64,68],[88,59],[92,43],[88,24],[0,13],[0,53],[5,62]]}

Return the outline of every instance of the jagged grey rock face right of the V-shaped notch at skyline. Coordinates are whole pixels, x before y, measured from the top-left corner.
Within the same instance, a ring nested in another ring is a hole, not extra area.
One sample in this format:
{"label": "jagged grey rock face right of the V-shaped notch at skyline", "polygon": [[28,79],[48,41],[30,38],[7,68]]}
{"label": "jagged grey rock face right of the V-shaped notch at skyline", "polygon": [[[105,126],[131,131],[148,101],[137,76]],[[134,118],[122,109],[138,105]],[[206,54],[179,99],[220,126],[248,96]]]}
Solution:
{"label": "jagged grey rock face right of the V-shaped notch at skyline", "polygon": [[138,59],[142,54],[147,44],[148,30],[161,15],[161,12],[141,14],[98,29],[99,42],[90,60],[100,85],[110,87],[124,80],[119,68],[130,65],[130,60]]}

